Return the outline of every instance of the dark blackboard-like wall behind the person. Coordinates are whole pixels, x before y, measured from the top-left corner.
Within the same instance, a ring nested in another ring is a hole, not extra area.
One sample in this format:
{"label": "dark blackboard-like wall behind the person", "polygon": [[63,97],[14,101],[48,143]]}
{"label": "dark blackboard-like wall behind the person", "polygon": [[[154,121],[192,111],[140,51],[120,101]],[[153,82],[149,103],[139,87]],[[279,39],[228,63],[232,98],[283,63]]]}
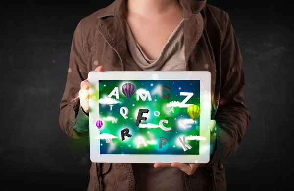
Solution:
{"label": "dark blackboard-like wall behind the person", "polygon": [[[111,2],[0,4],[0,191],[87,190],[88,139],[62,132],[59,103],[76,25]],[[208,3],[230,15],[252,115],[240,148],[225,159],[228,191],[294,189],[292,7],[286,0]]]}

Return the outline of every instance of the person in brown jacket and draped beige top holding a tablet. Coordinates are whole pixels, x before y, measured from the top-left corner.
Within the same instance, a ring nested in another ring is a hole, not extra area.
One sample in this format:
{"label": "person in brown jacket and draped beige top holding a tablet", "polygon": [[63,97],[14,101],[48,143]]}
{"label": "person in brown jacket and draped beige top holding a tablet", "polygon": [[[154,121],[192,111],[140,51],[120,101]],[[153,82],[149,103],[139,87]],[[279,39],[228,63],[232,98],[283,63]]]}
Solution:
{"label": "person in brown jacket and draped beige top holding a tablet", "polygon": [[239,147],[251,115],[244,65],[227,12],[206,0],[115,0],[73,34],[59,124],[89,135],[90,71],[209,71],[211,158],[207,164],[92,163],[88,191],[225,191],[222,160]]}

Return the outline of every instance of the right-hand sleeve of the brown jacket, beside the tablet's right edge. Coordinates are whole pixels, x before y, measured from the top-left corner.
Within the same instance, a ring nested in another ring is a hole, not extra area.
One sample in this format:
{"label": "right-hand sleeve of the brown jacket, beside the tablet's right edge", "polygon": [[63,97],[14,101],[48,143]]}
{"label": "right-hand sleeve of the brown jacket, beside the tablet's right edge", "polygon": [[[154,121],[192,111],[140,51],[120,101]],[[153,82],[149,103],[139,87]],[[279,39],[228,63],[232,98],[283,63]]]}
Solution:
{"label": "right-hand sleeve of the brown jacket, beside the tablet's right edge", "polygon": [[243,59],[228,14],[221,43],[221,94],[216,120],[216,147],[209,163],[219,162],[239,147],[251,115],[244,99]]}

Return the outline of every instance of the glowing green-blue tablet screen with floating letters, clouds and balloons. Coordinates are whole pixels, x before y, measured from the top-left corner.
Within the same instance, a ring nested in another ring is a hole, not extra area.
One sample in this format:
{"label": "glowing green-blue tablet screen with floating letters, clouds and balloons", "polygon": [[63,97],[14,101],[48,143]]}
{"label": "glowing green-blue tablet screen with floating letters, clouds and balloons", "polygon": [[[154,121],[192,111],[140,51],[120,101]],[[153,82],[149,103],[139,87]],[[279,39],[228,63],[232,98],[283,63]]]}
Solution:
{"label": "glowing green-blue tablet screen with floating letters, clouds and balloons", "polygon": [[[123,93],[126,83],[135,88],[129,98]],[[199,141],[203,139],[199,133],[200,116],[194,121],[187,112],[188,106],[183,107],[183,104],[200,107],[199,80],[99,80],[90,96],[97,104],[92,108],[90,106],[90,112],[92,115],[99,114],[98,119],[103,123],[102,126],[98,123],[100,129],[96,127],[95,139],[99,139],[100,143],[93,143],[95,147],[100,147],[100,154],[199,154]],[[142,117],[146,120],[136,125],[140,109],[147,109],[148,113],[143,113]],[[164,128],[171,130],[161,128],[162,120]],[[90,122],[94,124],[96,121]],[[124,136],[122,140],[121,131],[125,129],[131,136]],[[192,147],[186,151],[178,140],[183,136]]]}

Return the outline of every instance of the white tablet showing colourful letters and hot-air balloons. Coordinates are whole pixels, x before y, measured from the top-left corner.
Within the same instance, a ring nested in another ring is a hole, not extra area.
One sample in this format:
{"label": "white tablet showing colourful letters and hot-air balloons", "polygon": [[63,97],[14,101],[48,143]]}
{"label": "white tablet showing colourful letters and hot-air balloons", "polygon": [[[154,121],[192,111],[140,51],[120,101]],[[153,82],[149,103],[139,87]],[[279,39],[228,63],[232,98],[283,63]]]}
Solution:
{"label": "white tablet showing colourful letters and hot-air balloons", "polygon": [[96,163],[207,163],[211,73],[89,72]]}

